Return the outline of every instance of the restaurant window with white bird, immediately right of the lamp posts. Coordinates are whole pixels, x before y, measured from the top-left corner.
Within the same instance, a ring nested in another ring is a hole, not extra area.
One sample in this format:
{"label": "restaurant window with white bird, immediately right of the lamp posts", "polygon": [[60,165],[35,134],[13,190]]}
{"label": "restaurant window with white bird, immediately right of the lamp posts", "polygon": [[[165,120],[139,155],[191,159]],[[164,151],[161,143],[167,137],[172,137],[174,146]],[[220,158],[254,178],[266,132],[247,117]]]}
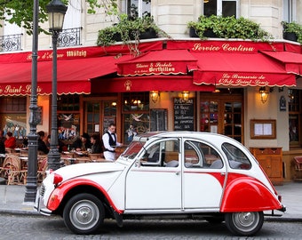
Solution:
{"label": "restaurant window with white bird, immediately right of the lamp posts", "polygon": [[58,96],[58,137],[60,140],[75,140],[80,135],[80,96]]}

